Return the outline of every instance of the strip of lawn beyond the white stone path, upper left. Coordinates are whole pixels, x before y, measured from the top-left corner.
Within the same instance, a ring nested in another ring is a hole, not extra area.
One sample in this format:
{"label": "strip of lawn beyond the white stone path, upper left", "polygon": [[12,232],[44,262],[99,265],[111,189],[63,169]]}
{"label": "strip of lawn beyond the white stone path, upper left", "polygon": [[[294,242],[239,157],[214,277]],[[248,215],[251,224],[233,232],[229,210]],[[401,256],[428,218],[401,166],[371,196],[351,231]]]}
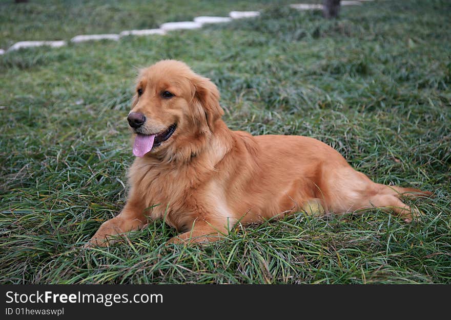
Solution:
{"label": "strip of lawn beyond the white stone path, upper left", "polygon": [[0,0],[0,48],[23,40],[68,40],[77,34],[152,29],[164,22],[190,21],[200,15],[228,16],[232,10],[272,5],[271,0],[29,0],[27,5]]}

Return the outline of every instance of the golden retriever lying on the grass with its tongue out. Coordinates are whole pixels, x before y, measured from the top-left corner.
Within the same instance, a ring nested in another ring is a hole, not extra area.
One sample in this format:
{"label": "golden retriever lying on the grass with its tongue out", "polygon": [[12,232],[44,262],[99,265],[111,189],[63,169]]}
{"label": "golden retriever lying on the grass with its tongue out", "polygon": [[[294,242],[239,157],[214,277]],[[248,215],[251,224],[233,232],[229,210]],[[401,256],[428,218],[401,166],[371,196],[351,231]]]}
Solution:
{"label": "golden retriever lying on the grass with its tongue out", "polygon": [[172,242],[212,241],[246,225],[294,212],[420,212],[402,195],[354,170],[336,150],[306,136],[232,131],[221,120],[217,87],[185,63],[163,60],[140,72],[128,122],[136,156],[127,203],[88,245],[164,219],[181,234]]}

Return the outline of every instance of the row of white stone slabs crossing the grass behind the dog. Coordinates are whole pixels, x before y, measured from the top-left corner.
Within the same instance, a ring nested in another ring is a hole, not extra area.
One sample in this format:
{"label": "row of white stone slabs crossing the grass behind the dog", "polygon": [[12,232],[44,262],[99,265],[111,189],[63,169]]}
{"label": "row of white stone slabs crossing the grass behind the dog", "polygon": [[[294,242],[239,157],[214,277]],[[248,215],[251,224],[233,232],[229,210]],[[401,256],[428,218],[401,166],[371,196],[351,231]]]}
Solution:
{"label": "row of white stone slabs crossing the grass behind the dog", "polygon": [[[362,2],[373,0],[359,0],[359,1],[341,1],[343,6],[362,5]],[[291,8],[297,10],[322,10],[323,6],[320,4],[292,4]],[[90,35],[77,35],[73,37],[70,42],[78,43],[84,41],[98,41],[98,40],[113,40],[119,41],[121,37],[126,36],[147,36],[147,35],[165,35],[168,31],[174,30],[186,30],[186,29],[199,29],[206,24],[220,24],[224,22],[230,22],[233,19],[253,18],[260,15],[259,11],[231,11],[228,17],[215,17],[215,16],[200,16],[195,17],[193,21],[180,21],[180,22],[166,22],[162,24],[159,29],[144,29],[144,30],[125,30],[119,34],[90,34]],[[50,48],[58,48],[66,45],[64,40],[58,41],[19,41],[14,43],[8,50],[0,49],[0,55],[7,52],[31,48],[47,46]]]}

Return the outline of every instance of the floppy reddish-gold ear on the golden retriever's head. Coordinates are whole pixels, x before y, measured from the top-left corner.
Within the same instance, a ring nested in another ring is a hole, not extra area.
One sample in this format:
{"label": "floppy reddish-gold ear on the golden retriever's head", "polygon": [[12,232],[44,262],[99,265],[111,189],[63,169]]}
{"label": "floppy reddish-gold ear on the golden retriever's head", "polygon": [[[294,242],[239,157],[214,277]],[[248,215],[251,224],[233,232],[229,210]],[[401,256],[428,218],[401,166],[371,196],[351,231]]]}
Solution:
{"label": "floppy reddish-gold ear on the golden retriever's head", "polygon": [[201,76],[193,79],[193,85],[194,96],[202,105],[208,127],[213,132],[214,123],[224,115],[224,111],[219,105],[219,90],[210,79]]}

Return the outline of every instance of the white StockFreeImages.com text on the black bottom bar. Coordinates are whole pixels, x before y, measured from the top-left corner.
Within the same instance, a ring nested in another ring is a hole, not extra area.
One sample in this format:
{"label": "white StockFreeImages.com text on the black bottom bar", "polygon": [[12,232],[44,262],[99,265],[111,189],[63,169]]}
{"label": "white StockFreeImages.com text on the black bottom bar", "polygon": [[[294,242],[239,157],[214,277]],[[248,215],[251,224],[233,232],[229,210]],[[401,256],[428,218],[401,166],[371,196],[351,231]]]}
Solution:
{"label": "white StockFreeImages.com text on the black bottom bar", "polygon": [[114,303],[163,303],[162,294],[136,293],[53,293],[44,291],[36,293],[6,292],[6,303],[100,303],[106,307]]}

